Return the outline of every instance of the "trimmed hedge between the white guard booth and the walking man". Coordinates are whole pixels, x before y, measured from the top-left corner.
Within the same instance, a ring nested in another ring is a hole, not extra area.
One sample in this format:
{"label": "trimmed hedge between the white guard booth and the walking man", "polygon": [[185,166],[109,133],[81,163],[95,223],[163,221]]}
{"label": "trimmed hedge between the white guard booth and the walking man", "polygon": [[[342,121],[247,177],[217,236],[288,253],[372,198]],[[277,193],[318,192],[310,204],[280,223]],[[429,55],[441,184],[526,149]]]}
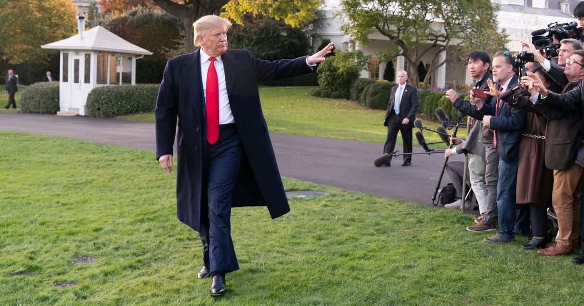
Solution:
{"label": "trimmed hedge between the white guard booth and the walking man", "polygon": [[86,115],[112,117],[152,111],[156,106],[158,87],[158,84],[97,87],[87,97]]}

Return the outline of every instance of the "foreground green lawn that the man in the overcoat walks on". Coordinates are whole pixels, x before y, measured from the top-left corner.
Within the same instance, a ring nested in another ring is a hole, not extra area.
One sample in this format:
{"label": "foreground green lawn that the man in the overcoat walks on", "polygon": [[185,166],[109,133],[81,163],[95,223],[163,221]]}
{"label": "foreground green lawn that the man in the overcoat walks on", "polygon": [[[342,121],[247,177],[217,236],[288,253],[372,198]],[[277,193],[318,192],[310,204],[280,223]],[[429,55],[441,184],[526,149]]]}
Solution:
{"label": "foreground green lawn that the man in the overcoat walks on", "polygon": [[[572,256],[491,245],[472,215],[284,178],[292,199],[232,210],[241,270],[211,298],[154,152],[0,131],[0,305],[581,305]],[[388,187],[390,188],[390,187]],[[413,188],[412,188],[413,190]],[[95,262],[74,263],[81,255]],[[69,283],[71,287],[56,285]]]}

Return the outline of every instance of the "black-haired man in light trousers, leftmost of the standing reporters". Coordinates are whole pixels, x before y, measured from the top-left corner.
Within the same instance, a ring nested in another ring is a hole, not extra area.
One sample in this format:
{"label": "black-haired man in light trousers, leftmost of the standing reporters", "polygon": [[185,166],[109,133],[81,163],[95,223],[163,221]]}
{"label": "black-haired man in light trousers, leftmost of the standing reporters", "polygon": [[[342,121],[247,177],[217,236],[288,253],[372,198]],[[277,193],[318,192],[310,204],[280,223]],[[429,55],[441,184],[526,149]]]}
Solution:
{"label": "black-haired man in light trousers, leftmost of the standing reporters", "polygon": [[[475,50],[468,54],[467,68],[472,78],[476,80],[474,88],[488,89],[486,80],[493,78],[489,71],[490,67],[491,58],[486,52]],[[454,107],[469,115],[469,124],[474,124],[463,145],[444,152],[445,157],[466,152],[472,153],[468,157],[468,172],[481,216],[477,218],[477,223],[468,226],[467,230],[492,231],[497,221],[497,180],[499,177],[499,154],[493,147],[493,133],[482,124],[475,124],[477,119],[482,119],[481,112],[470,101],[460,99],[456,90],[448,90],[446,97],[450,99]],[[493,97],[486,97],[485,103],[490,104],[492,99]]]}

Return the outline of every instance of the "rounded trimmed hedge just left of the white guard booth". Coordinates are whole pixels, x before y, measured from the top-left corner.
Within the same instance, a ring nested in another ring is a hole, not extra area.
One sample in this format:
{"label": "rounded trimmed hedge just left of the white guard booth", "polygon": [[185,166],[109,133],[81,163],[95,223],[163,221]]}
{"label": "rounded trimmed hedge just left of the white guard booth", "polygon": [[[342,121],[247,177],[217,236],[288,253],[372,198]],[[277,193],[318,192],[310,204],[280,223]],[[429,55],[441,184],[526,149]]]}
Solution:
{"label": "rounded trimmed hedge just left of the white guard booth", "polygon": [[35,114],[56,114],[59,110],[59,82],[39,82],[30,85],[20,96],[20,111]]}

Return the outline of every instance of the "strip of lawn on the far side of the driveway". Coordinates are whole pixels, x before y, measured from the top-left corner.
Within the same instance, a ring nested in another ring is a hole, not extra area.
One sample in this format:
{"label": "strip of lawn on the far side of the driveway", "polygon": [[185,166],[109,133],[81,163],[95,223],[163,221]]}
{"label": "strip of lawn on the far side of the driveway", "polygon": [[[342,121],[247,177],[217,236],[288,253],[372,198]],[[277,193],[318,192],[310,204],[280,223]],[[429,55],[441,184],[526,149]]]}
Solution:
{"label": "strip of lawn on the far side of the driveway", "polygon": [[[263,114],[270,132],[385,142],[385,110],[373,110],[346,99],[314,97],[310,95],[312,89],[313,87],[260,87]],[[117,118],[154,122],[152,112]],[[429,128],[436,128],[438,125],[433,121],[422,122]],[[413,132],[416,131],[417,129]],[[449,133],[453,131],[450,130]],[[466,129],[459,129],[457,134],[464,137]],[[436,133],[425,131],[423,135],[426,142],[440,141]],[[415,137],[413,142],[418,145]],[[402,143],[401,135],[398,135],[397,143]],[[444,148],[446,145],[435,147]],[[401,151],[401,146],[396,149]]]}

